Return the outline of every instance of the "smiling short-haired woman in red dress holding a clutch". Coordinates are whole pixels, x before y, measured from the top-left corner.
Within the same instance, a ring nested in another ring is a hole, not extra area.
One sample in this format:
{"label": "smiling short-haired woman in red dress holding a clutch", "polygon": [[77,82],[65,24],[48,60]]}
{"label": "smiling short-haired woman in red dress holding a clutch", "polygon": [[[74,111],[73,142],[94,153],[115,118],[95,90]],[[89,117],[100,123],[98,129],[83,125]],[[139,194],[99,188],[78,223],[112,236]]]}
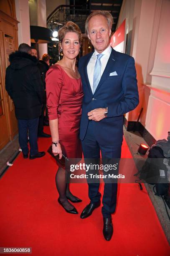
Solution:
{"label": "smiling short-haired woman in red dress holding a clutch", "polygon": [[[46,74],[46,93],[53,154],[62,153],[68,158],[81,158],[79,127],[83,90],[76,67],[76,56],[80,51],[81,31],[69,21],[58,31],[63,59],[53,65]],[[69,174],[68,174],[69,175]],[[81,202],[72,195],[66,184],[66,171],[61,167],[56,174],[58,202],[66,212],[78,214],[68,201]]]}

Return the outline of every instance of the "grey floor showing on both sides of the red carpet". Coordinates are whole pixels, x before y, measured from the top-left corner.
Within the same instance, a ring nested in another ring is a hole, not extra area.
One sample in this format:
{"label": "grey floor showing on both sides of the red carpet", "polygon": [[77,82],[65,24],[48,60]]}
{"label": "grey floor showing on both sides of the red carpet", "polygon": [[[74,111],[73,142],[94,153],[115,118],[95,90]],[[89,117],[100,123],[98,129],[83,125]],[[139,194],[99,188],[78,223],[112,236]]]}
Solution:
{"label": "grey floor showing on both sides of the red carpet", "polygon": [[[140,170],[141,166],[144,164],[147,154],[145,156],[141,156],[137,154],[137,149],[139,148],[140,143],[147,144],[144,139],[140,136],[140,133],[138,132],[127,132],[124,128],[124,137],[127,141],[127,144],[129,146],[129,150],[131,151],[132,156],[134,157],[135,164],[137,166],[137,169]],[[8,166],[7,162],[13,161],[15,157],[17,157],[19,153],[19,143],[18,143],[18,136],[15,136],[14,140],[8,143],[3,150],[0,151],[0,175],[1,177],[5,175],[5,172],[8,172]],[[15,161],[15,160],[14,160]],[[4,172],[5,170],[5,172]],[[136,184],[139,186],[138,184]],[[153,192],[153,185],[145,184],[145,187],[147,189],[147,192],[150,196],[150,199],[152,201],[152,204],[155,207],[155,210],[157,212],[157,216],[160,220],[160,223],[162,225],[162,228],[165,232],[165,235],[167,237],[168,242],[170,243],[170,221],[167,217],[167,213],[165,210],[165,205],[161,197],[158,197]],[[167,210],[170,214],[170,210],[167,207]]]}

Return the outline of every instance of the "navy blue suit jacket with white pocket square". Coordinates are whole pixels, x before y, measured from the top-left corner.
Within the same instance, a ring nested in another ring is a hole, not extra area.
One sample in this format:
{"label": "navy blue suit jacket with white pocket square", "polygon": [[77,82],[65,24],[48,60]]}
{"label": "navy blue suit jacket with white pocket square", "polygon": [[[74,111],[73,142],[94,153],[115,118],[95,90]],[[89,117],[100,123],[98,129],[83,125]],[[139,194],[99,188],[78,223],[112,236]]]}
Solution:
{"label": "navy blue suit jacket with white pocket square", "polygon": [[[79,72],[84,91],[80,139],[83,140],[86,135],[89,123],[87,113],[95,108],[108,107],[107,118],[99,122],[93,121],[95,137],[103,146],[120,144],[123,139],[123,114],[136,108],[139,103],[134,58],[112,49],[107,66],[93,95],[87,75],[87,64],[93,53],[79,60]],[[116,76],[109,76],[115,71]]]}

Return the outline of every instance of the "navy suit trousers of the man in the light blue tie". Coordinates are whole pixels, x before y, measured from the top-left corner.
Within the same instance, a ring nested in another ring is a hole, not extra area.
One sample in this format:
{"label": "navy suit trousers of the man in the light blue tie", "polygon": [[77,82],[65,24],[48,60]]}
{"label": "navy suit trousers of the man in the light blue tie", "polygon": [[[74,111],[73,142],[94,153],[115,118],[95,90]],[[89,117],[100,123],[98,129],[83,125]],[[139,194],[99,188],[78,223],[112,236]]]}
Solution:
{"label": "navy suit trousers of the man in the light blue tie", "polygon": [[[93,127],[95,121],[89,121],[86,136],[82,143],[83,154],[85,161],[86,159],[99,159],[100,150],[103,164],[106,159],[120,159],[122,142],[118,145],[100,145],[95,138],[95,130]],[[107,134],[106,134],[107,136]],[[88,182],[88,180],[87,180]],[[105,182],[105,181],[104,181]],[[89,198],[91,202],[99,202],[101,194],[99,192],[98,183],[88,183],[89,185]],[[111,214],[115,212],[117,202],[117,182],[116,183],[105,183],[104,194],[103,194],[103,207],[102,215],[104,218],[110,218]]]}

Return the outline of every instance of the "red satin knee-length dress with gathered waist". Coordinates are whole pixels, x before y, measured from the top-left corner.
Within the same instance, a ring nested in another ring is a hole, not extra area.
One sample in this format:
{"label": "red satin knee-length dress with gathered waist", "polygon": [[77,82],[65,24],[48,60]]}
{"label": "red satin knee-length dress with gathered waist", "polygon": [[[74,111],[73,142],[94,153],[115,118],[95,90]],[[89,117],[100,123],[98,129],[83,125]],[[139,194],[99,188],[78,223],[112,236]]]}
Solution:
{"label": "red satin knee-length dress with gathered waist", "polygon": [[58,118],[58,132],[63,154],[81,158],[79,128],[83,90],[81,79],[74,79],[60,65],[46,73],[46,93],[49,120]]}

